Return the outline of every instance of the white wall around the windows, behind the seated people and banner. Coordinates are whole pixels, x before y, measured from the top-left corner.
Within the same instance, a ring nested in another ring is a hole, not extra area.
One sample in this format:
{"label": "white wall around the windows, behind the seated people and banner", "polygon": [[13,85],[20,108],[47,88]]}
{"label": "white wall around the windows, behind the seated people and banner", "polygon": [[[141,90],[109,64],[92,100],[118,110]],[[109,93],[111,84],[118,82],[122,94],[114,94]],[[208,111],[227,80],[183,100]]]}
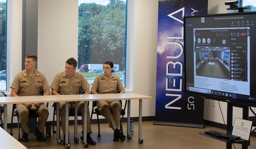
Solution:
{"label": "white wall around the windows, behind the seated people and banner", "polygon": [[[131,0],[128,32],[128,88],[127,93],[152,96],[143,100],[143,116],[155,116],[157,71],[158,0]],[[209,0],[208,14],[227,13],[223,0]],[[12,0],[12,30],[10,39],[10,80],[21,71],[21,12],[22,1]],[[38,70],[45,73],[51,84],[56,73],[64,71],[65,61],[78,53],[78,0],[38,0]],[[214,101],[213,101],[214,102]],[[218,101],[212,106],[204,102],[204,119],[223,124]],[[52,103],[49,118],[52,120]],[[226,120],[226,103],[221,102]],[[138,117],[139,102],[131,101],[131,117]],[[89,107],[91,109],[91,106]],[[8,113],[11,105],[8,105]],[[91,110],[90,110],[91,111]],[[8,115],[10,117],[10,115]],[[236,109],[235,117],[241,117]],[[95,117],[94,117],[95,118]],[[10,123],[11,118],[8,118]],[[226,123],[226,122],[225,122]]]}

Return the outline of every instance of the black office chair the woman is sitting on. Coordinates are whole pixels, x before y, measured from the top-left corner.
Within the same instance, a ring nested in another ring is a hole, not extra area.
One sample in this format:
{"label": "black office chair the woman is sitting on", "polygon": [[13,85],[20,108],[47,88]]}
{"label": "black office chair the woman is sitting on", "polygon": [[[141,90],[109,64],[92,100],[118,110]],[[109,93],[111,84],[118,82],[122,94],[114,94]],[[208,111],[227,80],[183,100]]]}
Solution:
{"label": "black office chair the woman is sitting on", "polygon": [[[97,92],[97,90],[96,90]],[[120,90],[117,88],[117,92],[116,93],[120,93]],[[127,105],[127,100],[125,100],[125,105],[124,105],[124,108],[122,108],[122,101],[120,100],[120,103],[121,103],[121,119],[120,119],[120,130],[121,132],[123,132],[123,125],[122,125],[122,121],[123,121],[123,118],[124,118],[124,115],[125,115],[125,109],[126,109],[126,105]],[[97,107],[97,101],[93,101],[93,109],[91,110],[91,120],[93,118],[93,114],[97,114],[97,122],[98,122],[98,138],[101,138],[101,134],[100,134],[100,128],[99,128],[99,115],[102,116],[101,113],[99,113],[99,109],[98,108],[95,108]],[[94,109],[95,108],[95,109]]]}

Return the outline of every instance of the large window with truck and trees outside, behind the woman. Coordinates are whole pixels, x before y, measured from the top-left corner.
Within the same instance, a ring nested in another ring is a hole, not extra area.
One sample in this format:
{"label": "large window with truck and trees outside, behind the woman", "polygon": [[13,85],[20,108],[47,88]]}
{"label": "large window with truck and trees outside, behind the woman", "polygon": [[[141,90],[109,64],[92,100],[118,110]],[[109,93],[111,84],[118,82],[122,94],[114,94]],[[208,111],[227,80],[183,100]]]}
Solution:
{"label": "large window with truck and trees outside, behind the woman", "polygon": [[92,85],[112,61],[125,86],[127,1],[79,0],[78,15],[78,72]]}

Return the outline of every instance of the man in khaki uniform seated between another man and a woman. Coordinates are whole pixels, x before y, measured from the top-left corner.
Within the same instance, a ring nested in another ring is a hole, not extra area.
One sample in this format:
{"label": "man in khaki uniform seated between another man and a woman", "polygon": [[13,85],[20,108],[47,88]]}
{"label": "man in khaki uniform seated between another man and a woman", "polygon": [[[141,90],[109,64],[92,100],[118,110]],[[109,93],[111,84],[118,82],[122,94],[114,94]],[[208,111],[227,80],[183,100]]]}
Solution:
{"label": "man in khaki uniform seated between another man and a woman", "polygon": [[[90,84],[82,73],[76,72],[77,62],[74,58],[70,58],[66,61],[65,71],[57,73],[52,81],[50,88],[52,88],[52,95],[58,94],[79,94],[80,89],[84,90],[84,94],[90,94]],[[75,102],[69,102],[69,110],[75,108]],[[65,102],[60,102],[60,116],[61,116],[61,128],[65,138]],[[82,114],[82,122],[84,117],[84,102],[78,102],[78,112]],[[69,134],[69,132],[68,132]],[[91,134],[91,122],[90,112],[87,108],[87,143],[95,145],[96,142],[90,137]],[[65,139],[63,141],[65,145]]]}

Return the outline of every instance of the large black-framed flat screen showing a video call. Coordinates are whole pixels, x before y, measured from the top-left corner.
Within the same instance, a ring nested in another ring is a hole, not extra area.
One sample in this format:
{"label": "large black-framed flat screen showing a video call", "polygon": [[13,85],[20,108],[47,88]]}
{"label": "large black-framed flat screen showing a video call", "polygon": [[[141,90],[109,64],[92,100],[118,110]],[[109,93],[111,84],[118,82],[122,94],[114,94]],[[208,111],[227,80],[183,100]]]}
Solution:
{"label": "large black-framed flat screen showing a video call", "polygon": [[184,17],[185,94],[256,104],[256,12]]}

